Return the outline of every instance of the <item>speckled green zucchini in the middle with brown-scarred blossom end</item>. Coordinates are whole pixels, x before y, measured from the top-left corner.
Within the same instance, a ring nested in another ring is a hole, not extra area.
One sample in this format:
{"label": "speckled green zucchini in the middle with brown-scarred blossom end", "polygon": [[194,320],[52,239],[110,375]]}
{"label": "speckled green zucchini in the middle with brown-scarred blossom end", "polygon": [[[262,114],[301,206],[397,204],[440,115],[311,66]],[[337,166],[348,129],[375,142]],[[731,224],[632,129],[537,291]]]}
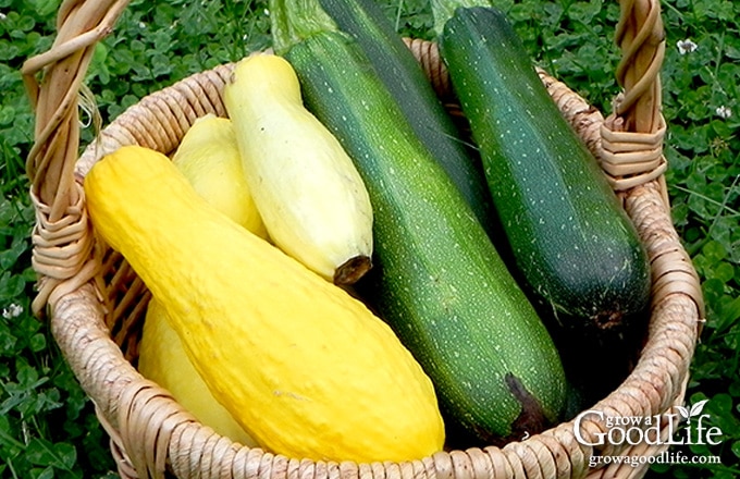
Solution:
{"label": "speckled green zucchini in the middle with brown-scarred blossom end", "polygon": [[358,288],[434,382],[448,431],[494,442],[557,421],[552,339],[367,56],[318,0],[272,0],[270,12],[275,52],[370,194],[374,267]]}

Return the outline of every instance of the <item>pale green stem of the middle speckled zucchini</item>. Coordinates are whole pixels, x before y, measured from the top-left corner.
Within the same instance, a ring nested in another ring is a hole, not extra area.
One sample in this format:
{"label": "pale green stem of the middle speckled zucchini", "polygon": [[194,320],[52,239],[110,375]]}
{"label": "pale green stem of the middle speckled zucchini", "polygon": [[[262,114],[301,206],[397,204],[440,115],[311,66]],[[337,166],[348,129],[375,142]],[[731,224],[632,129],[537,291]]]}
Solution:
{"label": "pale green stem of the middle speckled zucchini", "polygon": [[272,48],[283,54],[307,38],[338,27],[319,0],[270,0]]}

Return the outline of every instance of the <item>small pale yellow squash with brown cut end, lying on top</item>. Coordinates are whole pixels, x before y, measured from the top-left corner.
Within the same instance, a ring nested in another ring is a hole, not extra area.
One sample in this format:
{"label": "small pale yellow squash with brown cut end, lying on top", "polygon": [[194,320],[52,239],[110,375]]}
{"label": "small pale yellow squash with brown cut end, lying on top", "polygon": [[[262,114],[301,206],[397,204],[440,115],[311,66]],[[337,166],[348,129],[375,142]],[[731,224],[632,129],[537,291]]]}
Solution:
{"label": "small pale yellow squash with brown cut end, lying on top", "polygon": [[370,197],[340,142],[304,107],[293,66],[247,57],[223,98],[270,238],[324,279],[356,282],[371,266]]}

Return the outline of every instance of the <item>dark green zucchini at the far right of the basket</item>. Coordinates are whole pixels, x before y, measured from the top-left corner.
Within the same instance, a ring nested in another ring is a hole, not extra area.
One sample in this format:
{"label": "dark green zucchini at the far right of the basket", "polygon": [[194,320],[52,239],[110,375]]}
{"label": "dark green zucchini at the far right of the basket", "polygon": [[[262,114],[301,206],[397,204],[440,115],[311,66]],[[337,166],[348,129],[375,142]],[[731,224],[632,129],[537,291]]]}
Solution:
{"label": "dark green zucchini at the far right of the basket", "polygon": [[574,331],[624,331],[650,299],[636,228],[504,13],[465,3],[433,2],[439,47],[526,287]]}

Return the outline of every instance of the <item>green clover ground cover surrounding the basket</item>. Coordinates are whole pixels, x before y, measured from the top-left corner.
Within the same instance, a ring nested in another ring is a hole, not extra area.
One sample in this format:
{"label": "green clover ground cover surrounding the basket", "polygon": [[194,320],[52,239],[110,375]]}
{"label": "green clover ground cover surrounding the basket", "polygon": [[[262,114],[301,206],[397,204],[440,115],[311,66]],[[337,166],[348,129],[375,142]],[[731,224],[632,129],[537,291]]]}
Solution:
{"label": "green clover ground cover surrounding the basket", "polygon": [[[20,67],[53,39],[59,0],[0,0],[0,477],[115,477],[108,438],[60,356],[48,326],[29,315],[35,275],[25,158],[33,113]],[[379,0],[399,32],[431,38],[427,1]],[[618,3],[494,0],[536,62],[610,111],[617,93]],[[190,73],[269,46],[264,1],[135,0],[97,49],[88,74],[103,123],[144,95]],[[721,464],[654,466],[651,476],[740,477],[740,4],[665,0],[662,72],[669,125],[666,174],[674,221],[702,279],[706,323],[687,403],[721,429],[717,445],[683,445],[686,456]],[[91,138],[84,130],[83,140]]]}

